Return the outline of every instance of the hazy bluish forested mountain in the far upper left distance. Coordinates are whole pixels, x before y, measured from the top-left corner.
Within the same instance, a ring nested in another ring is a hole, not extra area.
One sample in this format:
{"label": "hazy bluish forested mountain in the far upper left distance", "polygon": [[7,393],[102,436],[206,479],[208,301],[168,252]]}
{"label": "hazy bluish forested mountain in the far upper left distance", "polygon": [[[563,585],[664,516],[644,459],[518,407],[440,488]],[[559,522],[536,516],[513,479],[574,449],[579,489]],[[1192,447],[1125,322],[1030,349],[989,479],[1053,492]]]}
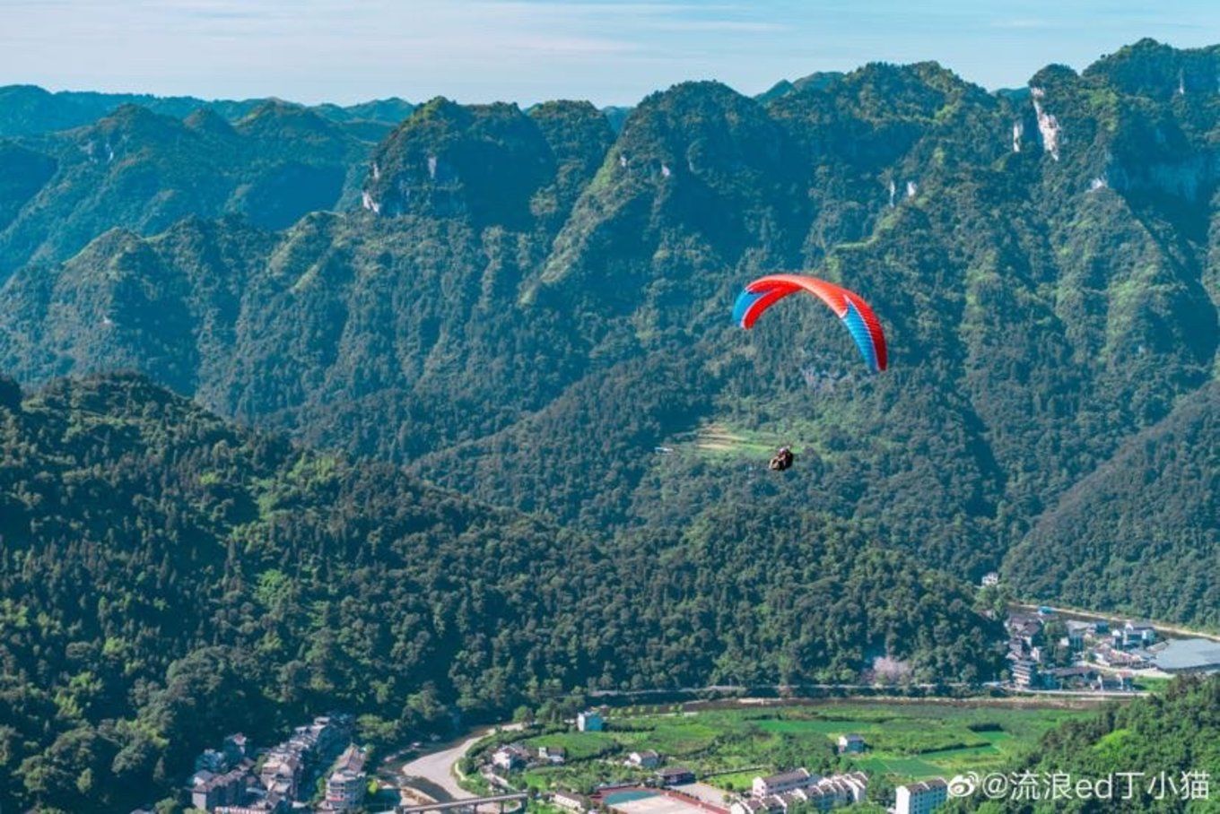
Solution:
{"label": "hazy bluish forested mountain in the far upper left distance", "polygon": [[234,123],[126,105],[82,128],[0,143],[0,275],[76,255],[112,228],[190,216],[268,228],[360,200],[375,146],[312,111],[266,102]]}

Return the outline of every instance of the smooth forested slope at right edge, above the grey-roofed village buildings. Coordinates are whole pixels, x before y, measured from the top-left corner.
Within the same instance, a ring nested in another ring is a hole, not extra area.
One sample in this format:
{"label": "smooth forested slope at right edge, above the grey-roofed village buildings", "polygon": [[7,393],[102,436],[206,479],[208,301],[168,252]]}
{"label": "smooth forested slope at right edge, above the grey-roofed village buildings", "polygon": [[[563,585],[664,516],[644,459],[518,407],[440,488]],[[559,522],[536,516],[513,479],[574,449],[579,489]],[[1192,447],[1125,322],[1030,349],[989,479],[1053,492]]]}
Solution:
{"label": "smooth forested slope at right edge, above the grey-roofed village buildings", "polygon": [[1033,597],[1220,628],[1218,498],[1213,383],[1070,489],[1009,552],[1005,569]]}

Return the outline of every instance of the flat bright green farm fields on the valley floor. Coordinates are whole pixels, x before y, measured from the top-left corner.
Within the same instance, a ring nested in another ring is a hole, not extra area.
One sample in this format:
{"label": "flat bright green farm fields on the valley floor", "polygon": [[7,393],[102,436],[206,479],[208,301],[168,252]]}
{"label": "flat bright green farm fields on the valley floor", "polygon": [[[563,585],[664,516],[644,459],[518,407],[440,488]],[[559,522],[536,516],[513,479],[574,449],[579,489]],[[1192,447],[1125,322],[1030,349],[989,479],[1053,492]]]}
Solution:
{"label": "flat bright green farm fields on the valley floor", "polygon": [[[564,766],[531,769],[531,787],[592,788],[608,781],[643,780],[650,773],[625,765],[633,749],[655,749],[669,764],[706,782],[741,791],[758,774],[804,765],[828,774],[861,769],[893,782],[959,771],[987,771],[1032,748],[1047,730],[1089,715],[1060,707],[953,703],[826,702],[800,707],[733,708],[698,713],[611,712],[605,732],[534,735],[533,746],[562,746]],[[867,751],[838,756],[839,735],[863,735]],[[762,769],[739,770],[747,766]],[[734,771],[737,769],[738,771]]]}

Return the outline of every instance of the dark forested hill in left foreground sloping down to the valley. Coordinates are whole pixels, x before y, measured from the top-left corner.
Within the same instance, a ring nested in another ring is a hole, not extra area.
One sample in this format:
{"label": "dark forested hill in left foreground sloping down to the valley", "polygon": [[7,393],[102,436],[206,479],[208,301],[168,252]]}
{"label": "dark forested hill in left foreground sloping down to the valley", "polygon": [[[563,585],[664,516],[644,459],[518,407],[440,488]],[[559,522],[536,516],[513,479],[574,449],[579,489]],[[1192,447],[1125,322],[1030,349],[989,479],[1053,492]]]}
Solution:
{"label": "dark forested hill in left foreground sloping down to the valley", "polygon": [[0,380],[0,451],[6,808],[129,808],[227,729],[333,707],[405,735],[572,690],[998,667],[964,584],[828,517],[564,531],[133,375]]}

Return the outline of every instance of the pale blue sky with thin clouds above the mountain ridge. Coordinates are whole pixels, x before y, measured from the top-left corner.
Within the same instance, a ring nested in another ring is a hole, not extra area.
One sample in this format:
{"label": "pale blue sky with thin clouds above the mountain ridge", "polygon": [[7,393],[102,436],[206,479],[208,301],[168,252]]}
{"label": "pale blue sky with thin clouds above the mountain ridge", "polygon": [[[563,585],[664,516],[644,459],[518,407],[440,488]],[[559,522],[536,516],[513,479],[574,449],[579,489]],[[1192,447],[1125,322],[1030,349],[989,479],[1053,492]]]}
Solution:
{"label": "pale blue sky with thin clouds above the mountain ridge", "polygon": [[353,102],[630,105],[684,79],[759,93],[869,61],[987,88],[1141,37],[1220,43],[1215,0],[0,0],[0,84]]}

